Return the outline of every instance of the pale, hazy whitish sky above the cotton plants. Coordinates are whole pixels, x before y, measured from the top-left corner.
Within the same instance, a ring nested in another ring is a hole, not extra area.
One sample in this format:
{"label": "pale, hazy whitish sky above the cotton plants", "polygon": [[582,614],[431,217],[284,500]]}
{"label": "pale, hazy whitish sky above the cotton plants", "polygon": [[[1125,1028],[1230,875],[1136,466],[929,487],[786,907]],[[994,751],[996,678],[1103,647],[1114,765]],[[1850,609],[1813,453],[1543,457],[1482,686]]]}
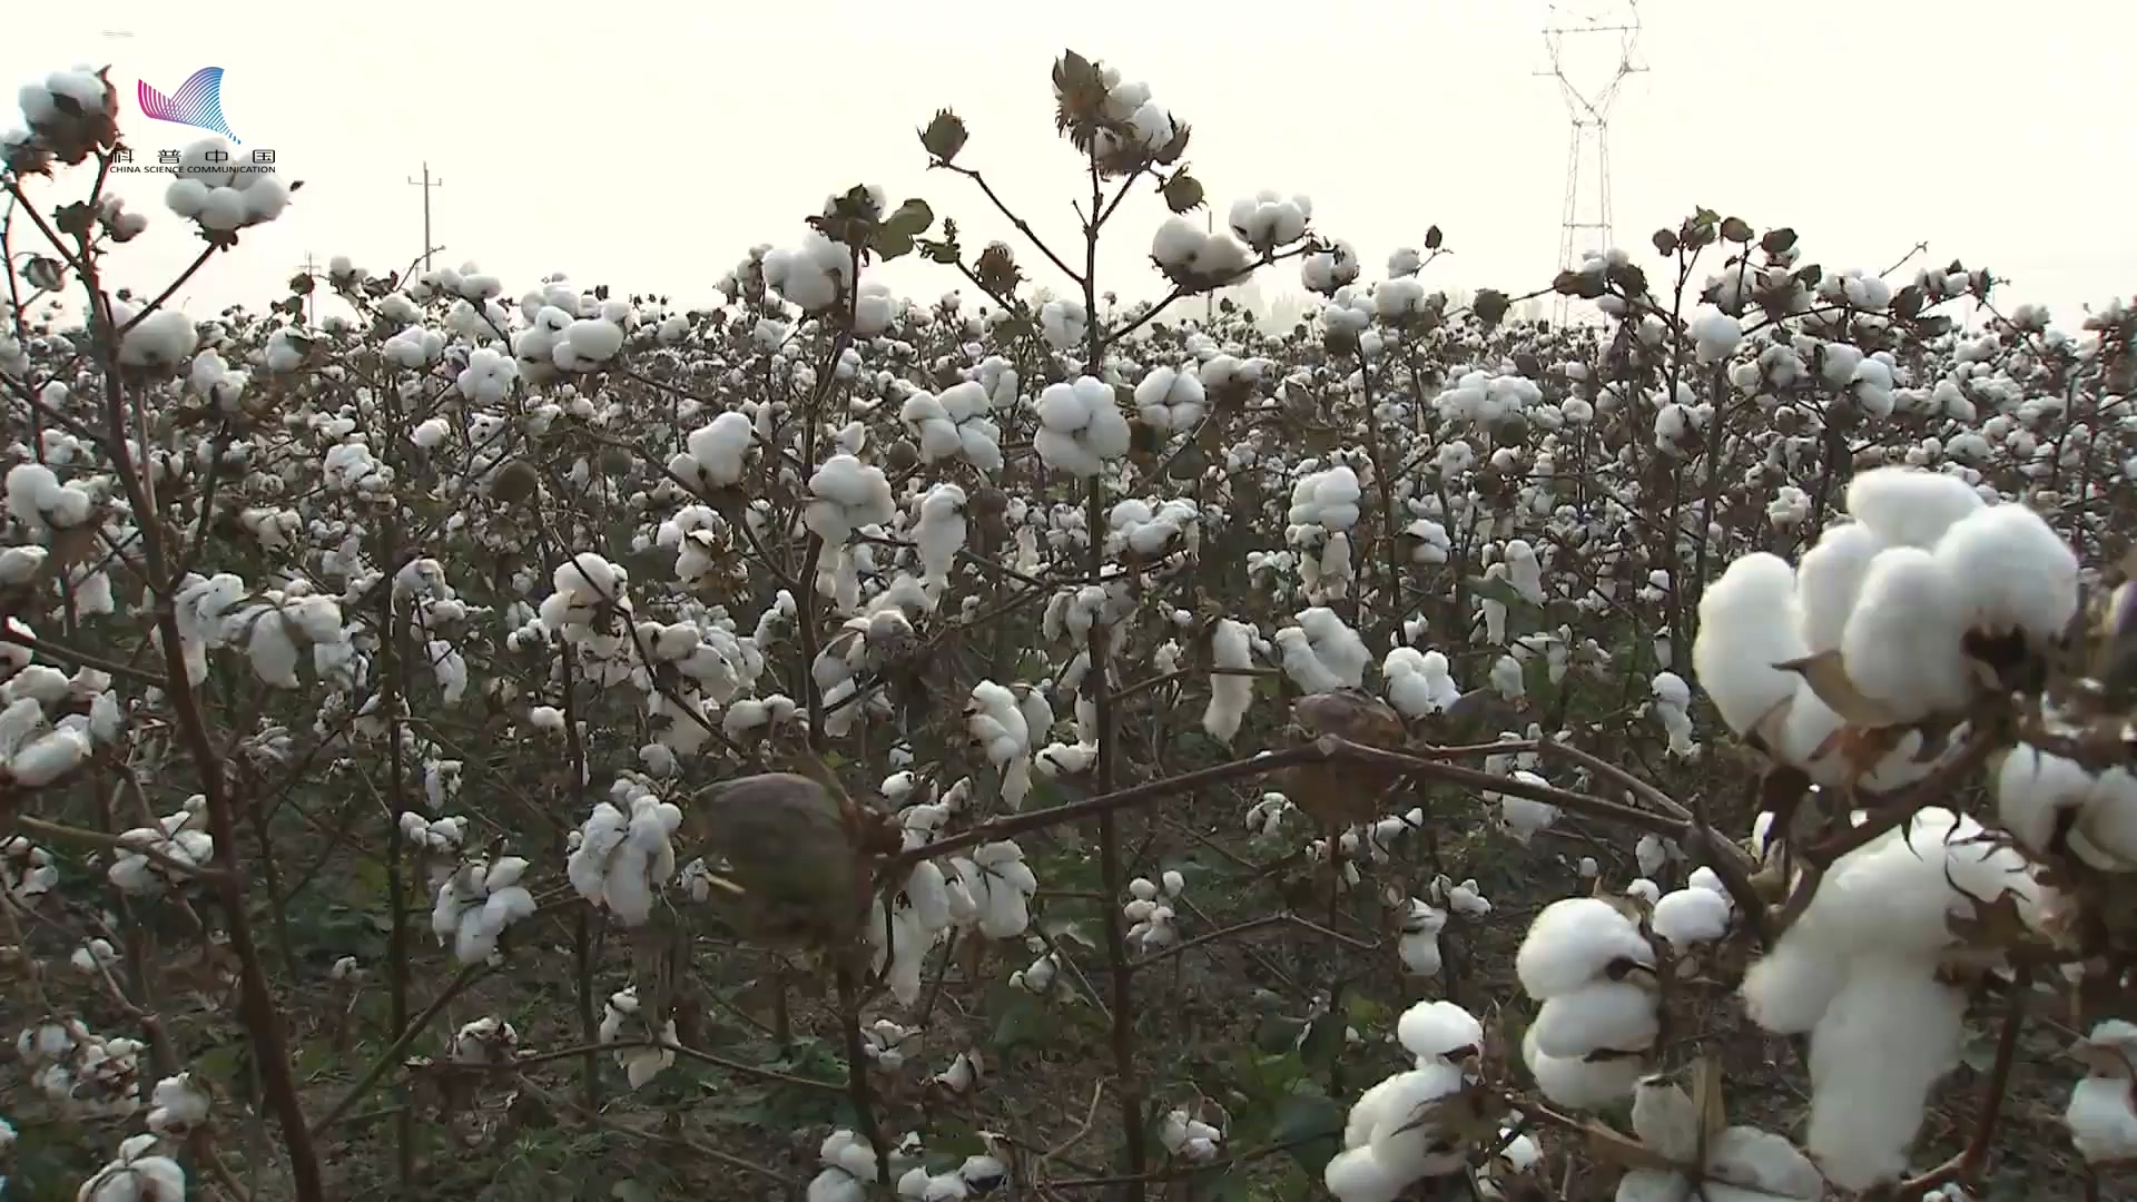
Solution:
{"label": "pale, hazy whitish sky above the cotton plants", "polygon": [[[1936,261],[2009,276],[2005,304],[2049,304],[2062,325],[2137,291],[2128,0],[1645,0],[1639,15],[1650,71],[1611,113],[1618,244],[1641,248],[1707,205],[1793,225],[1827,267],[1881,269],[1928,242]],[[154,160],[205,135],[141,118],[135,81],[173,92],[201,66],[227,71],[231,130],[306,188],[182,293],[197,317],[280,295],[308,252],[404,267],[423,248],[423,192],[406,180],[425,160],[444,182],[440,263],[472,259],[509,295],[566,272],[709,302],[752,244],[795,242],[855,182],[893,203],[925,197],[977,250],[1011,231],[966,180],[923,171],[915,128],[936,107],[970,126],[960,165],[1068,255],[1081,180],[1047,86],[1064,45],[1148,81],[1192,124],[1188,160],[1220,222],[1239,195],[1306,192],[1316,229],[1357,246],[1368,278],[1438,222],[1453,257],[1428,280],[1519,293],[1549,282],[1564,199],[1566,109],[1534,75],[1543,24],[1530,0],[378,0],[310,15],[107,0],[11,21],[0,77],[109,62],[122,130]],[[1611,41],[1569,66],[1601,79],[1603,51],[1616,60]],[[152,214],[118,257],[120,282],[160,287],[199,246],[162,210],[167,182],[118,184]],[[1154,195],[1122,207],[1101,287],[1163,293],[1148,263],[1163,218]],[[1019,261],[1060,289],[1036,255]],[[1297,291],[1295,267],[1274,272],[1265,295]],[[917,257],[885,280],[923,299],[962,282]]]}

